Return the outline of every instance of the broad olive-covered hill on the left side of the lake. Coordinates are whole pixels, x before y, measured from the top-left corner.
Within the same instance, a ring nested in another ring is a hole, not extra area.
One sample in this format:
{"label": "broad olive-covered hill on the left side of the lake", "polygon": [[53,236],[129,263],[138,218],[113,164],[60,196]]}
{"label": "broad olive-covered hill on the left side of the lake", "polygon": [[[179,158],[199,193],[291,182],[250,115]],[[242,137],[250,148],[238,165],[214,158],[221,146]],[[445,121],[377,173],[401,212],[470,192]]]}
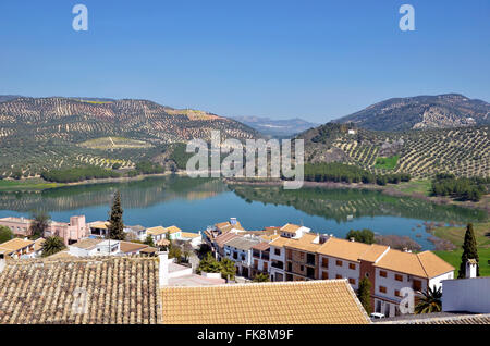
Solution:
{"label": "broad olive-covered hill on the left side of the lake", "polygon": [[255,138],[232,119],[148,100],[0,97],[0,176],[39,175],[79,165],[133,168],[169,144],[193,138]]}

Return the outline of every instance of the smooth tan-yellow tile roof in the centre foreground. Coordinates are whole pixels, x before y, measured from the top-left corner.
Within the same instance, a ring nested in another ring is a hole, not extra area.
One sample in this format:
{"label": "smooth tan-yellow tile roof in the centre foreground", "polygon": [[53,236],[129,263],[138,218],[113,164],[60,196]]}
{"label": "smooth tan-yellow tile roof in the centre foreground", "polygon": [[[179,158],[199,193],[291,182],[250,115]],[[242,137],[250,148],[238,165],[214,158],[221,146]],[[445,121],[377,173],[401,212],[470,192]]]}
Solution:
{"label": "smooth tan-yellow tile roof in the centre foreground", "polygon": [[367,324],[346,280],[164,287],[164,324]]}

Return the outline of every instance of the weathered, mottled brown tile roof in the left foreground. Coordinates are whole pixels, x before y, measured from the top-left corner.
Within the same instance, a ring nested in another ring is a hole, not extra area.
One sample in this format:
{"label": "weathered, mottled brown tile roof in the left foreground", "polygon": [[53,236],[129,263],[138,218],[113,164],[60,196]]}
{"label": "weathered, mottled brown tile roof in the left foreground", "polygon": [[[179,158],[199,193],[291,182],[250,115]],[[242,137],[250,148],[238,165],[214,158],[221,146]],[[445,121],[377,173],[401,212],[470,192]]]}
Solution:
{"label": "weathered, mottled brown tile roof in the left foreground", "polygon": [[[79,288],[86,313],[74,309]],[[20,260],[0,274],[0,324],[157,323],[160,309],[155,258]]]}

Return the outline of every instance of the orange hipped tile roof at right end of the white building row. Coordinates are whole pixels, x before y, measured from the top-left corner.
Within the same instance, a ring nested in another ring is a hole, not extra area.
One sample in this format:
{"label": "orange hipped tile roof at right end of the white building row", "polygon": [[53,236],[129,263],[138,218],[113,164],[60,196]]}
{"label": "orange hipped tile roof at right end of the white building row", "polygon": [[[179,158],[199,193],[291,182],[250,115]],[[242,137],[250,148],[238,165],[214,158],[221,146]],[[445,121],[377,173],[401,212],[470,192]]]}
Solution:
{"label": "orange hipped tile roof at right end of the white building row", "polygon": [[433,277],[454,270],[454,267],[430,251],[414,254],[393,249],[373,265],[419,277]]}

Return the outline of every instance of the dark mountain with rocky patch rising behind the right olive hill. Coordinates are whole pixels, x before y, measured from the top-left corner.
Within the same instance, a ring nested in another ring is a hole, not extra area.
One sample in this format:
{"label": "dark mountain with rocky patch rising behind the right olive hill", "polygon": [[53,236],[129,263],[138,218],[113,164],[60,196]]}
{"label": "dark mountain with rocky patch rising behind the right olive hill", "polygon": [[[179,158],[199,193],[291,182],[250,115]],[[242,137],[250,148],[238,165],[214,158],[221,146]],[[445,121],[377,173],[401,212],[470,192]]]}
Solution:
{"label": "dark mountain with rocky patch rising behind the right olive hill", "polygon": [[490,103],[458,94],[392,98],[335,120],[376,131],[490,124]]}

